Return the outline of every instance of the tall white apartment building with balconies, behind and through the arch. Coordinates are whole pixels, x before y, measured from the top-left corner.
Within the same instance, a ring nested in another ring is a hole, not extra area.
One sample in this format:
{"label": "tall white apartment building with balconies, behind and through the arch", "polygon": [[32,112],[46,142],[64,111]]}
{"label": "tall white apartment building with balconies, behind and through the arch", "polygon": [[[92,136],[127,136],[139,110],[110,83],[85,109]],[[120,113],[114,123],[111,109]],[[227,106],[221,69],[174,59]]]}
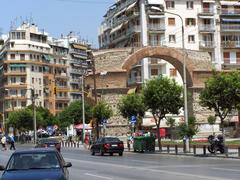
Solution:
{"label": "tall white apartment building with balconies, behind and through the arch", "polygon": [[[165,13],[163,12],[165,11]],[[181,19],[173,14],[179,15]],[[118,0],[104,15],[99,28],[100,48],[167,46],[206,51],[217,69],[240,64],[240,3],[221,0]],[[146,58],[129,75],[129,85],[159,74],[182,80],[161,59]]]}

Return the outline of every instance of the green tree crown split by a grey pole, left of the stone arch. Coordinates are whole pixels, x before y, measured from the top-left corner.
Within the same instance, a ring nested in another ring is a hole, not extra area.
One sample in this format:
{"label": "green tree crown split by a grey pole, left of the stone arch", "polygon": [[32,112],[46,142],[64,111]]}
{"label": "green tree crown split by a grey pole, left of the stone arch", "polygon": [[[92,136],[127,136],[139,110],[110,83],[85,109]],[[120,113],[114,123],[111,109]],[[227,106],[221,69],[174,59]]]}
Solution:
{"label": "green tree crown split by a grey pole, left of the stone arch", "polygon": [[[89,123],[92,118],[92,108],[85,101],[85,123]],[[71,124],[82,123],[82,101],[74,101],[58,115],[61,128],[68,127]]]}

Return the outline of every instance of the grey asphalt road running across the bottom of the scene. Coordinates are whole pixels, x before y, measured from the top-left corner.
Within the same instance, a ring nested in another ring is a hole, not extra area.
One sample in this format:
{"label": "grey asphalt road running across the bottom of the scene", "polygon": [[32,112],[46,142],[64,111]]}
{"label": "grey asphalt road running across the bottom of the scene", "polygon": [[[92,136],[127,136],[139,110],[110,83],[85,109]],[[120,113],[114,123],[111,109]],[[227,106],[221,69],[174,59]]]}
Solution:
{"label": "grey asphalt road running across the bottom of the scene", "polygon": [[[26,147],[18,147],[26,148]],[[29,146],[28,146],[29,148]],[[91,156],[86,150],[62,149],[70,180],[239,180],[240,160],[183,157],[126,152],[122,157]],[[0,164],[6,164],[11,151],[0,151]]]}

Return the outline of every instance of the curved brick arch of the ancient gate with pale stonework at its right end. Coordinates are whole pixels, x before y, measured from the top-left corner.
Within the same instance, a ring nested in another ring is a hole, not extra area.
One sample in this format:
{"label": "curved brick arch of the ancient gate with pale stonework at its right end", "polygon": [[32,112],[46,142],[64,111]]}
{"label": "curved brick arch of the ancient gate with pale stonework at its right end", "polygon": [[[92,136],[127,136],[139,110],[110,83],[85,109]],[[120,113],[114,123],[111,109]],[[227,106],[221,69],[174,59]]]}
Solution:
{"label": "curved brick arch of the ancient gate with pale stonework at its right end", "polygon": [[[212,64],[208,54],[201,54],[195,51],[186,51],[186,78],[187,87],[194,86],[193,74],[196,70],[211,71]],[[131,70],[132,65],[146,57],[160,58],[172,64],[183,77],[183,51],[177,48],[167,47],[144,47],[127,57],[122,64],[122,68],[127,72]]]}

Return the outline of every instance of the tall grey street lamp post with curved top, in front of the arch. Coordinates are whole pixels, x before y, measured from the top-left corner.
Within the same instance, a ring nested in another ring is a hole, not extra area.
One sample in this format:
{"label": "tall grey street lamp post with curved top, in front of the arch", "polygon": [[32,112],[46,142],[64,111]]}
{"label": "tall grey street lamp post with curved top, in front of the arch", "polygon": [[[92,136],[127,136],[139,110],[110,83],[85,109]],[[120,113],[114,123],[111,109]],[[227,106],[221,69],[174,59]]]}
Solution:
{"label": "tall grey street lamp post with curved top, in front of the arch", "polygon": [[[183,50],[183,89],[184,89],[184,120],[186,123],[186,126],[188,127],[188,104],[187,104],[187,77],[186,77],[186,50],[185,50],[185,43],[184,43],[184,24],[183,24],[183,18],[176,13],[163,11],[167,14],[172,14],[175,16],[178,16],[181,19],[182,24],[182,50]],[[189,152],[189,138],[186,138],[186,151]]]}

